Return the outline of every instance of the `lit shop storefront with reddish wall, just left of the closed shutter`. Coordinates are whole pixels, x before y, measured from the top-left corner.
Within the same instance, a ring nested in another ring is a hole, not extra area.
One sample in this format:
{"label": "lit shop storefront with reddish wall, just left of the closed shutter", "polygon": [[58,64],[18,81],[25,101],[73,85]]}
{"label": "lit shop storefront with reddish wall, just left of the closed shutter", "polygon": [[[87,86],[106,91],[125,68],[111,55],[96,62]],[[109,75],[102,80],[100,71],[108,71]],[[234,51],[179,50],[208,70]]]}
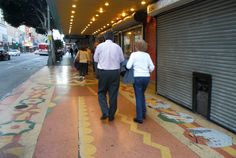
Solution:
{"label": "lit shop storefront with reddish wall, just left of the closed shutter", "polygon": [[[156,19],[147,17],[146,12],[137,11],[126,21],[115,25],[112,28],[115,33],[115,42],[119,44],[125,56],[129,56],[135,51],[134,43],[139,39],[144,39],[148,43],[147,52],[156,67]],[[156,81],[156,72],[152,72],[151,80]]]}

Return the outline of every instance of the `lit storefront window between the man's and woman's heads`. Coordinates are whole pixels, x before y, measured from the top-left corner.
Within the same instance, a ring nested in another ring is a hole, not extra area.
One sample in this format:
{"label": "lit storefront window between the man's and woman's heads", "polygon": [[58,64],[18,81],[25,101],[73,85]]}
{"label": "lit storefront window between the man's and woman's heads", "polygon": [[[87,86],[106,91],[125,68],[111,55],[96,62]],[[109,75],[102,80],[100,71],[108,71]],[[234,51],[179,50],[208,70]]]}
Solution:
{"label": "lit storefront window between the man's and woman's heads", "polygon": [[123,45],[124,54],[125,56],[130,56],[130,54],[135,51],[134,49],[135,41],[143,38],[142,28],[139,27],[124,32],[123,38],[124,38],[124,45]]}

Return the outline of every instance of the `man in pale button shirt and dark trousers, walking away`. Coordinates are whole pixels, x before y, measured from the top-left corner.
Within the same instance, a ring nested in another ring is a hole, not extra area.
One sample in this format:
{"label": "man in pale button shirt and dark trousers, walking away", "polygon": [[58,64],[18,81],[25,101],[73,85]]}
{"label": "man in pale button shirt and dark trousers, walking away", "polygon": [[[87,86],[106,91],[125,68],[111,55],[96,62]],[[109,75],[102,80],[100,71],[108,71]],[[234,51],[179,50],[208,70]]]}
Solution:
{"label": "man in pale button shirt and dark trousers, walking away", "polygon": [[[113,121],[117,110],[117,96],[120,86],[120,64],[124,61],[121,47],[112,40],[112,32],[105,34],[106,41],[100,43],[94,54],[94,61],[98,63],[98,101],[101,107],[101,120],[109,117]],[[107,101],[109,95],[109,104]]]}

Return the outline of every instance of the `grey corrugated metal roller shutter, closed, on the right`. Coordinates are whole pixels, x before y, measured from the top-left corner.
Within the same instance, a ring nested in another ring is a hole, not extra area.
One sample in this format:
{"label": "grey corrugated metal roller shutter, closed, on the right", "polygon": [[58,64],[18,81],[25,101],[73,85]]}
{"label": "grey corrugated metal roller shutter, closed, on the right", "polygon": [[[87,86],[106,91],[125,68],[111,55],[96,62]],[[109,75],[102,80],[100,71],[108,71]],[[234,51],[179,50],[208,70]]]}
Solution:
{"label": "grey corrugated metal roller shutter, closed, on the right", "polygon": [[195,1],[157,16],[157,91],[192,109],[192,72],[212,75],[210,119],[236,131],[236,1]]}

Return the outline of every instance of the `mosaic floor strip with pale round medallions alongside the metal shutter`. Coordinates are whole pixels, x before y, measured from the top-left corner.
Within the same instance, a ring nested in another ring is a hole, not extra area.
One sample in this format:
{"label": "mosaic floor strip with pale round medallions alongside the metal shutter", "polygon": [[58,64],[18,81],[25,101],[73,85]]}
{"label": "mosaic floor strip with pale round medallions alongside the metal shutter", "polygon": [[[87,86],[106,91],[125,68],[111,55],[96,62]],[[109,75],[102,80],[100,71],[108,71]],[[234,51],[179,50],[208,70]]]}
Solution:
{"label": "mosaic floor strip with pale round medallions alongside the metal shutter", "polygon": [[[132,86],[122,85],[121,90],[124,91],[126,97],[130,97],[131,101],[135,101]],[[146,100],[149,111],[154,112],[154,119],[158,119],[159,121],[162,120],[163,127],[165,127],[167,130],[171,129],[170,126],[167,126],[166,122],[170,122],[179,126],[184,130],[183,132],[180,132],[181,130],[172,130],[169,132],[176,135],[176,131],[179,131],[177,138],[183,143],[187,145],[189,144],[189,141],[191,141],[195,145],[202,147],[203,150],[199,150],[198,152],[195,147],[189,146],[200,156],[207,156],[205,152],[207,152],[209,149],[213,149],[216,152],[214,154],[212,153],[212,155],[208,154],[208,156],[226,158],[236,157],[236,145],[235,142],[233,144],[232,137],[214,129],[203,128],[203,126],[194,121],[191,115],[173,110],[171,108],[171,104],[168,103],[168,101],[163,101],[162,99],[159,99],[150,94],[146,95]],[[186,138],[189,141],[183,141]],[[204,145],[207,145],[209,148],[207,149],[204,147]],[[204,149],[206,150],[205,152],[203,152]]]}

